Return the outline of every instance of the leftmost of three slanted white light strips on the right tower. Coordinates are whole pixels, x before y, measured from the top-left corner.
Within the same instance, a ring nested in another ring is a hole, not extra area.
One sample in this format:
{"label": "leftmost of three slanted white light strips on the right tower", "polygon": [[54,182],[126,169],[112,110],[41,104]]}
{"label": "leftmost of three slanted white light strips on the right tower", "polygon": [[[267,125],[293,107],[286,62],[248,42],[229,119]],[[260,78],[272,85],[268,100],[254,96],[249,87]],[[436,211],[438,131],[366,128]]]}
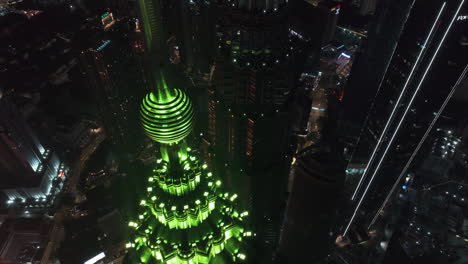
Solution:
{"label": "leftmost of three slanted white light strips on the right tower", "polygon": [[429,34],[427,35],[426,41],[424,42],[424,45],[422,46],[421,51],[419,52],[418,58],[416,59],[416,62],[414,63],[413,68],[411,69],[411,72],[410,72],[408,78],[406,79],[405,85],[403,86],[403,89],[401,90],[400,95],[398,96],[398,99],[397,99],[397,101],[395,103],[395,106],[393,107],[392,113],[390,114],[390,117],[388,118],[387,123],[385,124],[384,130],[380,134],[379,140],[377,141],[377,145],[375,146],[375,148],[374,148],[374,150],[372,152],[372,155],[371,155],[371,157],[369,159],[369,162],[367,163],[366,168],[364,169],[364,173],[362,174],[361,179],[359,179],[359,183],[356,186],[356,189],[354,190],[353,196],[351,197],[351,200],[353,200],[353,201],[356,198],[356,195],[357,195],[359,189],[361,188],[362,182],[364,181],[364,179],[367,176],[367,172],[369,170],[369,167],[372,166],[372,163],[374,162],[375,154],[377,153],[377,150],[380,148],[380,144],[382,143],[383,138],[387,134],[387,130],[388,130],[390,124],[392,123],[393,118],[395,117],[395,113],[396,113],[396,111],[398,109],[398,106],[400,105],[401,99],[403,98],[403,94],[406,92],[406,89],[408,88],[408,84],[411,81],[411,78],[413,77],[413,73],[416,70],[416,68],[417,68],[417,66],[419,64],[419,61],[421,60],[421,58],[422,58],[422,56],[424,54],[424,51],[427,48],[428,42],[429,42],[429,40],[430,40],[430,38],[432,36],[432,32],[434,31],[434,28],[436,27],[437,22],[439,21],[439,18],[440,18],[441,14],[442,14],[442,12],[443,12],[443,10],[445,8],[445,5],[446,5],[446,2],[444,2],[442,7],[440,8],[439,14],[437,15],[437,17],[436,17],[436,19],[435,19],[435,21],[434,21],[434,23],[432,25],[432,28],[429,31]]}

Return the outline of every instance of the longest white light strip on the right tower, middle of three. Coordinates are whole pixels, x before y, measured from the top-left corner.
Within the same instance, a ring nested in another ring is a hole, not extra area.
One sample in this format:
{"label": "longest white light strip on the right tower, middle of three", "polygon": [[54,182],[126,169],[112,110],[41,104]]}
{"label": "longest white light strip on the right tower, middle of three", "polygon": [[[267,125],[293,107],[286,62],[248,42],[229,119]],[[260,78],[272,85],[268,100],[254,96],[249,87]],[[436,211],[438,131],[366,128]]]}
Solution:
{"label": "longest white light strip on the right tower, middle of three", "polygon": [[[383,152],[382,157],[380,158],[379,163],[377,164],[377,167],[375,168],[374,173],[372,174],[371,179],[370,179],[369,183],[367,184],[367,187],[366,187],[366,189],[364,190],[364,193],[362,194],[361,199],[359,200],[358,205],[356,206],[356,209],[354,210],[354,213],[353,213],[351,219],[349,220],[349,223],[348,223],[348,225],[347,225],[347,227],[346,227],[346,229],[345,229],[345,232],[343,233],[343,236],[346,236],[346,233],[348,232],[349,227],[351,226],[352,222],[354,221],[354,218],[356,217],[357,211],[358,211],[359,208],[361,207],[362,201],[364,200],[364,198],[365,198],[365,196],[366,196],[366,194],[367,194],[367,191],[369,190],[369,187],[370,187],[370,185],[372,184],[372,182],[373,182],[373,180],[374,180],[374,178],[375,178],[375,175],[376,175],[377,172],[379,171],[380,166],[382,165],[382,162],[383,162],[383,160],[385,159],[389,148],[392,146],[393,140],[395,139],[395,136],[396,136],[396,134],[398,133],[398,130],[400,129],[400,126],[401,126],[401,124],[403,123],[403,121],[404,121],[404,119],[405,119],[405,117],[406,117],[406,114],[408,113],[408,111],[409,111],[411,105],[413,104],[414,98],[415,98],[416,95],[418,94],[418,92],[419,92],[419,90],[420,90],[420,88],[421,88],[421,85],[422,85],[422,83],[424,82],[424,80],[425,80],[425,78],[426,78],[426,75],[427,75],[427,73],[429,72],[429,70],[430,70],[430,68],[431,68],[431,66],[432,66],[432,63],[434,62],[435,58],[437,57],[437,54],[439,53],[439,50],[440,50],[440,48],[442,47],[442,44],[444,43],[445,38],[447,37],[447,34],[449,33],[450,29],[452,28],[453,22],[455,21],[455,19],[456,19],[458,13],[460,12],[460,9],[461,9],[461,7],[463,6],[463,3],[464,3],[464,2],[465,2],[465,0],[462,0],[462,1],[460,2],[460,5],[458,6],[458,9],[457,9],[457,11],[455,12],[455,15],[453,16],[452,20],[450,21],[450,25],[448,26],[447,30],[445,31],[444,36],[442,37],[442,39],[441,39],[441,41],[440,41],[440,43],[439,43],[439,46],[437,47],[437,49],[436,49],[434,55],[433,55],[432,58],[431,58],[431,61],[429,62],[429,65],[426,67],[426,70],[425,70],[425,72],[424,72],[424,74],[423,74],[423,76],[422,76],[422,78],[421,78],[421,81],[419,82],[419,84],[418,84],[418,86],[417,86],[415,92],[413,93],[413,96],[411,97],[411,100],[410,100],[410,102],[408,103],[408,105],[407,105],[407,107],[406,107],[406,109],[405,109],[405,112],[403,113],[403,116],[401,117],[400,122],[398,123],[398,125],[397,125],[397,127],[396,127],[396,129],[395,129],[395,132],[394,132],[393,135],[392,135],[392,138],[390,139],[389,143],[387,144],[387,147],[386,147],[385,151]],[[445,4],[445,2],[444,2],[444,4]]]}

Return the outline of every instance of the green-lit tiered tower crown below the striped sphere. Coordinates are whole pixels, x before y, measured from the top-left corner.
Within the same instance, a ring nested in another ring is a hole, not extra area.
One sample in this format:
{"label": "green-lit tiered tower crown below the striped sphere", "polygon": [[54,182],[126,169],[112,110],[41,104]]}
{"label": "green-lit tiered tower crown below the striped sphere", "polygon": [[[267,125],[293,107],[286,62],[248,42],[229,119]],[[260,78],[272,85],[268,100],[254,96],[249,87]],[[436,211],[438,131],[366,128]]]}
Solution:
{"label": "green-lit tiered tower crown below the striped sphere", "polygon": [[[246,255],[239,250],[245,246],[243,239],[252,234],[242,227],[247,213],[240,214],[233,207],[236,194],[220,193],[221,181],[214,179],[207,166],[200,166],[198,157],[191,153],[189,157],[194,157],[185,159],[191,168],[182,170],[182,177],[162,173],[161,168],[170,164],[157,163],[150,177],[154,180],[148,181],[147,198],[140,202],[139,219],[129,222],[135,233],[125,246],[133,249],[140,263],[151,259],[165,264],[211,263],[224,250],[235,263],[245,261]],[[180,179],[187,184],[179,184]],[[177,184],[169,188],[171,183]]]}

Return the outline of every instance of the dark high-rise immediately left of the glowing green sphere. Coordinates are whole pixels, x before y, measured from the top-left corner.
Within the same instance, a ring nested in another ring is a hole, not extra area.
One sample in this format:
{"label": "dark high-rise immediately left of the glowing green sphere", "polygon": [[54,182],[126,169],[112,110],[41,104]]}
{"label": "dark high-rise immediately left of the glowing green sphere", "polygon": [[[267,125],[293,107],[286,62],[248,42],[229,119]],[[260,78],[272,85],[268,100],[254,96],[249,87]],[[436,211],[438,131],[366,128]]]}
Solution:
{"label": "dark high-rise immediately left of the glowing green sphere", "polygon": [[[79,68],[84,79],[82,94],[88,100],[86,109],[96,115],[105,133],[115,146],[133,147],[126,137],[137,134],[137,114],[130,111],[138,105],[136,97],[143,94],[140,69],[133,66],[138,58],[131,52],[127,37],[128,25],[122,18],[117,20],[112,12],[101,16],[102,29],[92,27],[85,31],[86,48],[79,54]],[[87,35],[86,35],[87,34]],[[91,47],[91,48],[89,48]],[[132,87],[128,84],[132,83]],[[130,128],[125,128],[128,124]],[[132,123],[134,122],[134,123]]]}

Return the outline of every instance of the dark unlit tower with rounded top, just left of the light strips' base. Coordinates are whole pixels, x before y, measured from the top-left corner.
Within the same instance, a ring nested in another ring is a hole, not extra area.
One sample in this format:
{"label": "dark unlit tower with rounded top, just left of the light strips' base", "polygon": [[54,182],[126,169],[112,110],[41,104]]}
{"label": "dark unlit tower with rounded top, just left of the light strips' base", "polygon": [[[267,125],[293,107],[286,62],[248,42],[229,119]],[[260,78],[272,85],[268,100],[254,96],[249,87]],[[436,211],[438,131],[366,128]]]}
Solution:
{"label": "dark unlit tower with rounded top, just left of the light strips' base", "polygon": [[314,263],[326,257],[333,245],[330,232],[344,182],[344,163],[338,153],[323,149],[305,149],[292,165],[293,182],[279,241],[280,263]]}

